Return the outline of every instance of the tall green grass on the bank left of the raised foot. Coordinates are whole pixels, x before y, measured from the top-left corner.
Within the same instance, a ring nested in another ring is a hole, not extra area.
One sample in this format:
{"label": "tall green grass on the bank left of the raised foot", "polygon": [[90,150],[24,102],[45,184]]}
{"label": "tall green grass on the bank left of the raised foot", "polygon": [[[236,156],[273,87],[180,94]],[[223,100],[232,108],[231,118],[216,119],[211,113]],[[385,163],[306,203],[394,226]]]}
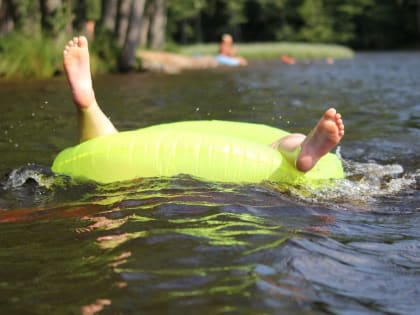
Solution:
{"label": "tall green grass on the bank left of the raised foot", "polygon": [[50,77],[61,69],[61,49],[50,38],[10,34],[0,42],[0,75]]}

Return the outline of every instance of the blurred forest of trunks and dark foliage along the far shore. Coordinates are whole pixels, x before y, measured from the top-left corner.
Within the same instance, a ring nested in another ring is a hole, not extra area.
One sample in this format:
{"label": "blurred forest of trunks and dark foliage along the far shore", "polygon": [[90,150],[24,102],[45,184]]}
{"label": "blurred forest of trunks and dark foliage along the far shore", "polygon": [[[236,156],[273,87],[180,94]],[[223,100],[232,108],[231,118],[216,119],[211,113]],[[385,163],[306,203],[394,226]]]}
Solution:
{"label": "blurred forest of trunks and dark foliage along the far shore", "polygon": [[96,23],[99,51],[118,56],[122,70],[138,47],[217,42],[226,32],[239,42],[420,46],[420,0],[0,0],[2,39],[18,33],[61,45],[87,21]]}

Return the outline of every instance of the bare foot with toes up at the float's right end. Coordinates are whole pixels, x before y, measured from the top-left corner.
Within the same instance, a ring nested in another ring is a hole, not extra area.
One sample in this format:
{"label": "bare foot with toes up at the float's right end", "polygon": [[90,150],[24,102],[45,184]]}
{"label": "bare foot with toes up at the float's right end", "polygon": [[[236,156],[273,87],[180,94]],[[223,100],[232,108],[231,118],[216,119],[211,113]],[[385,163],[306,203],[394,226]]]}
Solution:
{"label": "bare foot with toes up at the float's right end", "polygon": [[302,172],[309,171],[343,136],[344,124],[341,115],[334,108],[328,109],[303,141],[296,168]]}

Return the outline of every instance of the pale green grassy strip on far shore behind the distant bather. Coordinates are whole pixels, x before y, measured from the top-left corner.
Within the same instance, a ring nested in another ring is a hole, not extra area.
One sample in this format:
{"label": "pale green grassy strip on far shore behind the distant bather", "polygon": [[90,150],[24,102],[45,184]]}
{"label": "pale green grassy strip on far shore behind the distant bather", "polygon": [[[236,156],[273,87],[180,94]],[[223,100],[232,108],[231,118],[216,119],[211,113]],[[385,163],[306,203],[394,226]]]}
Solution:
{"label": "pale green grassy strip on far shore behind the distant bather", "polygon": [[[354,52],[347,47],[327,44],[304,43],[251,43],[237,44],[238,55],[248,59],[277,59],[283,54],[298,59],[323,59],[332,57],[336,59],[352,58]],[[187,55],[215,55],[218,44],[197,44],[181,46],[179,53]]]}

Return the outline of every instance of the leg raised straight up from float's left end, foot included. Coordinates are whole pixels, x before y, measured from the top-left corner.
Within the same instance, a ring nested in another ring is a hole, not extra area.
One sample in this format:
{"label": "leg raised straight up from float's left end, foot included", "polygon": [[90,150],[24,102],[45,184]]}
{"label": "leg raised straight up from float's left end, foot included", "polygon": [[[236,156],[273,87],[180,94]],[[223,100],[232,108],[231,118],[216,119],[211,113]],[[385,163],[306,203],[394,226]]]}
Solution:
{"label": "leg raised straight up from float's left end, foot included", "polygon": [[63,51],[64,70],[79,114],[80,141],[118,132],[96,102],[90,74],[88,42],[70,40]]}

